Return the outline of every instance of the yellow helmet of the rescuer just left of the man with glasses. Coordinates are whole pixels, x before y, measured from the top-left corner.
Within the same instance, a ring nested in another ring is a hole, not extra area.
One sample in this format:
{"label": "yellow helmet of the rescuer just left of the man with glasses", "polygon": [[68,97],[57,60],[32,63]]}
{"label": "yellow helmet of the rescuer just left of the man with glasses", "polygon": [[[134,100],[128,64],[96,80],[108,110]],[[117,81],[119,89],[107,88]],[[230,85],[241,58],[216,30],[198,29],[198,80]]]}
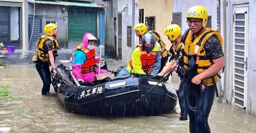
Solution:
{"label": "yellow helmet of the rescuer just left of the man with glasses", "polygon": [[170,41],[174,41],[178,36],[181,36],[181,27],[178,24],[170,24],[164,28],[164,35],[168,36]]}

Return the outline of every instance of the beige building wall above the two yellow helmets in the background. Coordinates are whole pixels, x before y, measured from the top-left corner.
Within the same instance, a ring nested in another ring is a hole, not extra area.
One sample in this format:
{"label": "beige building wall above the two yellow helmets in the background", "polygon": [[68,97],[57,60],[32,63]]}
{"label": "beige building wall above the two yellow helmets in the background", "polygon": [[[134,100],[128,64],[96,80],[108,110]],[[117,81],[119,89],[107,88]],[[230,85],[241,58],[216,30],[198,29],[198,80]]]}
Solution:
{"label": "beige building wall above the two yellow helmets in the background", "polygon": [[144,23],[145,17],[155,16],[155,31],[160,34],[166,44],[167,50],[169,50],[171,43],[163,33],[164,28],[172,24],[173,1],[161,0],[156,2],[155,0],[139,0],[138,6],[139,9],[144,9]]}

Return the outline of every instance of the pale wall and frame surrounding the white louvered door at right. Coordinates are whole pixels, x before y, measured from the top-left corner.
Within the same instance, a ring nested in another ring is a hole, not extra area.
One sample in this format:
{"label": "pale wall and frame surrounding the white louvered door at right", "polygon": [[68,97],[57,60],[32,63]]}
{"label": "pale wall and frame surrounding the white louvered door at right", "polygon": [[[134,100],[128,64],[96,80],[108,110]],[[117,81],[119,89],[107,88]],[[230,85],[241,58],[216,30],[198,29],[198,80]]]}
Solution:
{"label": "pale wall and frame surrounding the white louvered door at right", "polygon": [[233,86],[233,73],[230,70],[232,68],[232,58],[233,58],[233,50],[230,50],[230,48],[233,48],[233,8],[235,5],[242,5],[242,4],[248,4],[249,5],[249,24],[248,24],[248,61],[247,61],[247,69],[248,69],[248,84],[247,84],[247,94],[248,100],[247,100],[247,108],[246,111],[248,111],[250,114],[256,115],[256,60],[255,60],[255,41],[256,41],[256,33],[255,33],[255,27],[256,27],[256,21],[255,21],[255,15],[253,15],[256,12],[256,1],[254,0],[226,0],[224,3],[222,3],[226,8],[225,9],[225,16],[224,21],[226,21],[226,42],[224,43],[226,45],[226,84],[225,89],[227,91],[226,97],[228,102],[232,102],[232,86]]}

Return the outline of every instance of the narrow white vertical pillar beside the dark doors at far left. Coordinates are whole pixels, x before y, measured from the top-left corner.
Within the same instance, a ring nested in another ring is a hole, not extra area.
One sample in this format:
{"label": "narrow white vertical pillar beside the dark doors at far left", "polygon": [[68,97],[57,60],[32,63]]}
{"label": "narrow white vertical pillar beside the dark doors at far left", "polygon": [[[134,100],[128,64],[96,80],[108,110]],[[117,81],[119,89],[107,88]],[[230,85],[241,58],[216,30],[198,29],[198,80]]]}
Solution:
{"label": "narrow white vertical pillar beside the dark doors at far left", "polygon": [[29,9],[29,4],[27,3],[27,0],[23,0],[23,3],[22,3],[22,26],[21,26],[21,40],[22,40],[22,51],[25,52],[27,50],[29,50],[28,46],[27,46],[27,40],[29,40],[29,32],[27,31],[27,28],[26,27],[29,27],[28,26],[28,20],[29,20],[29,15],[28,15],[28,9]]}

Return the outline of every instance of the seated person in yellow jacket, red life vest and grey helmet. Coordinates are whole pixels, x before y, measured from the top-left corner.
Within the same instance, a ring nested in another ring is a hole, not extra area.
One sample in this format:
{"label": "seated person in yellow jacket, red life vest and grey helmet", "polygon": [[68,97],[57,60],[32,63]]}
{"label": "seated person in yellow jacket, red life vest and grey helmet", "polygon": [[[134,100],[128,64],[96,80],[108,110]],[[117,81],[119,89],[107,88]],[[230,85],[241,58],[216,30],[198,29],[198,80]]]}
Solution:
{"label": "seated person in yellow jacket, red life vest and grey helmet", "polygon": [[136,47],[132,52],[129,65],[122,69],[116,77],[138,73],[140,75],[157,75],[160,69],[159,45],[155,45],[155,37],[151,33],[146,33],[141,40],[142,46]]}

